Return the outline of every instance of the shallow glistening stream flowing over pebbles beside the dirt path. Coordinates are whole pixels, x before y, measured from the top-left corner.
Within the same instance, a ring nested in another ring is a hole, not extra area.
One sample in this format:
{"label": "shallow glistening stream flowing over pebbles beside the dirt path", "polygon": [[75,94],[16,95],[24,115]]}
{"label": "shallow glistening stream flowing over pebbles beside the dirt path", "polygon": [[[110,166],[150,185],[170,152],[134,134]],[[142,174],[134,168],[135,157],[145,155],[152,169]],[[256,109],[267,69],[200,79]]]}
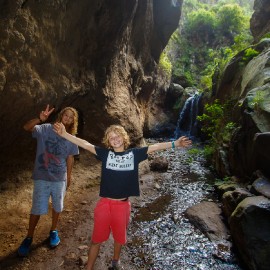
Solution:
{"label": "shallow glistening stream flowing over pebbles beside the dirt path", "polygon": [[[202,200],[215,201],[214,176],[202,156],[187,150],[166,150],[169,168],[159,197],[133,213],[128,247],[136,269],[240,270],[233,251],[222,250],[195,228],[184,211]],[[222,258],[217,254],[222,253]]]}

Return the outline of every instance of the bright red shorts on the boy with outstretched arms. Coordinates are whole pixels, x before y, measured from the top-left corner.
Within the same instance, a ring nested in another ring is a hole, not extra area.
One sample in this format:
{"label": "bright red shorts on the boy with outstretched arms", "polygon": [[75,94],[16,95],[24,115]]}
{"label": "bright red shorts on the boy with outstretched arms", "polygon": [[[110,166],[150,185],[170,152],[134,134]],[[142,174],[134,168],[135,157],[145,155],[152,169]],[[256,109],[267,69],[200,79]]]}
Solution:
{"label": "bright red shorts on the boy with outstretched arms", "polygon": [[94,210],[93,243],[108,240],[112,231],[114,241],[127,242],[127,227],[130,218],[130,202],[101,198]]}

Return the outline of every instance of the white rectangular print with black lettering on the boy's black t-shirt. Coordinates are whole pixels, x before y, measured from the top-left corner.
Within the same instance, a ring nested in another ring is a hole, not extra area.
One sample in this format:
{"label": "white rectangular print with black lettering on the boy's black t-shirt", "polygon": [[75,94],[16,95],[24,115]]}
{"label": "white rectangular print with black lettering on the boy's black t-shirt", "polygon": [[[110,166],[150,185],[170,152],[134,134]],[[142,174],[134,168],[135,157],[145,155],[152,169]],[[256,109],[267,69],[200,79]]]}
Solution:
{"label": "white rectangular print with black lettering on the boy's black t-shirt", "polygon": [[125,155],[116,155],[109,151],[106,168],[114,171],[132,171],[134,170],[134,154],[129,152]]}

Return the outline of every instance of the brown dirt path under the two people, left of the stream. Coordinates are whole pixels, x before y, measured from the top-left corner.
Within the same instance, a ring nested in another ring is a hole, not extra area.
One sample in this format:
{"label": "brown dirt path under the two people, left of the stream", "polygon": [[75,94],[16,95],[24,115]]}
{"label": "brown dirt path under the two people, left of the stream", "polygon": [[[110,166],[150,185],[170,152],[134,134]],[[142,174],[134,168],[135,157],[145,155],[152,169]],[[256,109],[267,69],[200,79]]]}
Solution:
{"label": "brown dirt path under the two people, left of the stream", "polygon": [[[145,167],[145,166],[143,166]],[[144,169],[145,171],[145,169]],[[81,153],[75,162],[73,182],[65,198],[65,210],[61,215],[59,235],[61,244],[56,249],[48,247],[51,209],[42,216],[37,226],[33,247],[28,258],[19,258],[17,248],[26,235],[31,207],[31,171],[25,171],[20,181],[12,183],[0,195],[0,269],[53,270],[84,269],[88,245],[93,226],[93,209],[98,200],[100,163],[88,153]],[[15,181],[16,182],[16,181]],[[133,207],[139,207],[151,194],[153,174],[141,177],[141,197],[133,198]],[[112,256],[113,241],[109,239],[101,248],[96,270],[107,269]],[[122,261],[126,269],[132,270],[125,248]]]}

